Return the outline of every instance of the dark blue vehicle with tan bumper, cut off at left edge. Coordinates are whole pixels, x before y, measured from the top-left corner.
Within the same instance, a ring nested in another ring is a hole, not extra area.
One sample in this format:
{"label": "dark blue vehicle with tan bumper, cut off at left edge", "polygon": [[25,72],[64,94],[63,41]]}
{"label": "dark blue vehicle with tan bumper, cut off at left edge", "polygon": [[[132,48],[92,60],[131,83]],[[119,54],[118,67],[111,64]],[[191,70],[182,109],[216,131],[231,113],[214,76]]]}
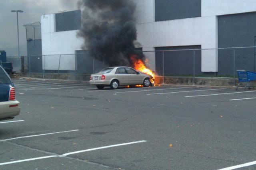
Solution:
{"label": "dark blue vehicle with tan bumper, cut off at left edge", "polygon": [[0,121],[13,119],[18,114],[20,114],[20,102],[16,100],[14,84],[0,66]]}

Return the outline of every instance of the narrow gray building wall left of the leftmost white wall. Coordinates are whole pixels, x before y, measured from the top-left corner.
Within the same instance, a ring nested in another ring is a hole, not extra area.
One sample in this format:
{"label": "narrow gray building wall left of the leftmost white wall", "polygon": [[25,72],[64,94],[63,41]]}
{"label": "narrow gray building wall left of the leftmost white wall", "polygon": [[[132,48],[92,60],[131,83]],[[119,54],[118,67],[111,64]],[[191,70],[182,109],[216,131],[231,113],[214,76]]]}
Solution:
{"label": "narrow gray building wall left of the leftmost white wall", "polygon": [[31,72],[42,72],[42,40],[27,41],[28,70]]}

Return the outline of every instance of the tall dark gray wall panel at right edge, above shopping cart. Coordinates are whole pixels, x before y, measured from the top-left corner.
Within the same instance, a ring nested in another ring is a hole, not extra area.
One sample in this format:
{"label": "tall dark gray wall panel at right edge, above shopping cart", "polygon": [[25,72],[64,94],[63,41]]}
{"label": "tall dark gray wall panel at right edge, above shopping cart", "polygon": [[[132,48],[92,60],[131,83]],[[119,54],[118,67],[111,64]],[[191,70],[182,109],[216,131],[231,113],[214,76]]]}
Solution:
{"label": "tall dark gray wall panel at right edge, above shopping cart", "polygon": [[[254,46],[256,36],[256,12],[218,16],[218,47]],[[233,75],[235,70],[255,70],[254,48],[219,49],[218,75]]]}

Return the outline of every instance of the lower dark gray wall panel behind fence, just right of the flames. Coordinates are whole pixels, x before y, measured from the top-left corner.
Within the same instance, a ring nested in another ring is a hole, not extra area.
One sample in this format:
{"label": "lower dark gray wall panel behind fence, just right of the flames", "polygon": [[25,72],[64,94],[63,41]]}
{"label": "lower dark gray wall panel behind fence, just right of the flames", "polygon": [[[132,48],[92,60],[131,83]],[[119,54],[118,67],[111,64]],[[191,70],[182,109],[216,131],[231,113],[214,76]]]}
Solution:
{"label": "lower dark gray wall panel behind fence, just right of the flames", "polygon": [[[156,72],[163,75],[164,54],[164,76],[188,76],[193,75],[193,50],[186,51],[164,51],[201,49],[201,45],[177,46],[177,47],[155,47],[156,49]],[[195,74],[201,75],[201,50],[195,50]]]}

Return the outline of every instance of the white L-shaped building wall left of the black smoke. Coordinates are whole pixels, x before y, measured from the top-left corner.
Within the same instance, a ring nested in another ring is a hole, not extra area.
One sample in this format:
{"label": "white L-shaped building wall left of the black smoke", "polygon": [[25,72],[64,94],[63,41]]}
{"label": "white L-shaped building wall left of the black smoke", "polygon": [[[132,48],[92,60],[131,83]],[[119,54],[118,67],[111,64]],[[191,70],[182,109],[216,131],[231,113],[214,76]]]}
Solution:
{"label": "white L-shaped building wall left of the black smoke", "polygon": [[[81,50],[83,40],[76,37],[77,30],[55,32],[54,14],[41,16],[42,23],[42,68],[58,70],[60,55],[60,70],[76,70],[76,50]],[[45,58],[44,55],[50,55]],[[45,64],[45,66],[44,66]]]}

